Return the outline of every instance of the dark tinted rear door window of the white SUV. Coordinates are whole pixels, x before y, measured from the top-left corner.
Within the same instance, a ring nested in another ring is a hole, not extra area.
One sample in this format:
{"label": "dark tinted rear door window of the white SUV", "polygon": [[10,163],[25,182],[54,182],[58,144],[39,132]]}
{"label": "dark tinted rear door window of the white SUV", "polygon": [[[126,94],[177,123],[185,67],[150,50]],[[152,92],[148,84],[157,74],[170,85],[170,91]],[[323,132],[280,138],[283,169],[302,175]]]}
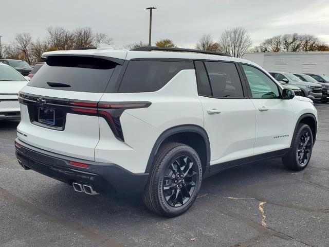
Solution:
{"label": "dark tinted rear door window of the white SUV", "polygon": [[199,95],[216,98],[244,97],[241,80],[234,63],[196,61],[195,67]]}

